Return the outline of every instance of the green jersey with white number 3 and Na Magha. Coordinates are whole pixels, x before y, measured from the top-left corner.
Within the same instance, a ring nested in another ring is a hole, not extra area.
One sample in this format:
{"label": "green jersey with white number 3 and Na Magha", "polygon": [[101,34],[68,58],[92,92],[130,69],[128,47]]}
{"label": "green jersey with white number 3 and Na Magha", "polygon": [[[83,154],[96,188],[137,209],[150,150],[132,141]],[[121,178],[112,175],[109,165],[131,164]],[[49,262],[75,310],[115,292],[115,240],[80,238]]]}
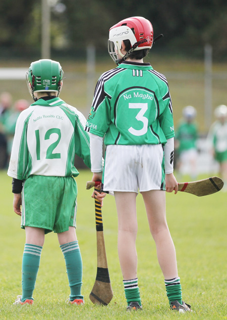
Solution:
{"label": "green jersey with white number 3 and Na Magha", "polygon": [[165,144],[173,138],[166,78],[149,63],[125,61],[99,78],[85,130],[105,145]]}

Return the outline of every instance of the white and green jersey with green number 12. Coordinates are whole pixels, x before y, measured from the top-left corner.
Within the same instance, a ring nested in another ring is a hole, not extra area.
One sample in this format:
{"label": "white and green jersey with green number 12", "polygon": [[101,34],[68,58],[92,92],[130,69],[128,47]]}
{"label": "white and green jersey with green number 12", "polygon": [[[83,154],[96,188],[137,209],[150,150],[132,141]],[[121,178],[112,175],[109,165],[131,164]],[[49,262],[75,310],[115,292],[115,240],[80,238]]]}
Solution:
{"label": "white and green jersey with green number 12", "polygon": [[77,176],[75,153],[90,168],[90,139],[81,112],[60,98],[39,99],[20,114],[8,175]]}

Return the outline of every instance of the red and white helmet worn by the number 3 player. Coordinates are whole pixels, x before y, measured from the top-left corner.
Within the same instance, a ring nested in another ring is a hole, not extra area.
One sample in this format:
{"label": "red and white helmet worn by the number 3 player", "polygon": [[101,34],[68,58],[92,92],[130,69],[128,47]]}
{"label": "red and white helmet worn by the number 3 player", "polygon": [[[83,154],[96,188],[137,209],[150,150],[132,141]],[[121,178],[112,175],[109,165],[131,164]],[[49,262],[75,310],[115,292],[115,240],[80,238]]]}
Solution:
{"label": "red and white helmet worn by the number 3 player", "polygon": [[[119,64],[122,41],[130,40],[131,50],[151,49],[153,44],[153,27],[149,20],[143,17],[124,19],[109,29],[108,52],[113,61]],[[127,58],[127,55],[126,55]]]}

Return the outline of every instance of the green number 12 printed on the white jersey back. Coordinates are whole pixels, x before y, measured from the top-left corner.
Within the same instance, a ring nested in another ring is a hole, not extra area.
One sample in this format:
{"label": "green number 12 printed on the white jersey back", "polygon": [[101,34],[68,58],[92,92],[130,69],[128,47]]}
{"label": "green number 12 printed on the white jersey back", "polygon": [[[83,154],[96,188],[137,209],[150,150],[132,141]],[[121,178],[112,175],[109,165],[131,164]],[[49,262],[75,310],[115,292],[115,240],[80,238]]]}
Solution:
{"label": "green number 12 printed on the white jersey back", "polygon": [[[58,134],[58,139],[54,141],[46,150],[46,159],[61,159],[61,153],[53,153],[53,150],[58,146],[60,140],[61,140],[61,130],[59,128],[51,128],[46,131],[44,140],[49,140],[50,135],[52,133]],[[39,130],[35,130],[35,138],[36,138],[36,156],[37,160],[40,160],[40,136],[39,136]]]}

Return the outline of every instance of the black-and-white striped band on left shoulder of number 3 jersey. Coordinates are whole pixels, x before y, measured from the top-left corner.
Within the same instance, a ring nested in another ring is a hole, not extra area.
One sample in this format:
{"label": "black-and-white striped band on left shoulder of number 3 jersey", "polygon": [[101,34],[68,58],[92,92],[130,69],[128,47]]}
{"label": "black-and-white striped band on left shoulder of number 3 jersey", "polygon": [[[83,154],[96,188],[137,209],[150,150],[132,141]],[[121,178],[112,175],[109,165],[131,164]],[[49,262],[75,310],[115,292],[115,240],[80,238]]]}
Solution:
{"label": "black-and-white striped band on left shoulder of number 3 jersey", "polygon": [[104,100],[104,87],[103,84],[105,81],[109,80],[111,77],[115,76],[116,74],[125,71],[127,69],[111,69],[107,72],[105,72],[98,80],[96,87],[95,87],[95,93],[94,93],[94,98],[93,98],[93,107],[94,111],[98,108],[100,103]]}

